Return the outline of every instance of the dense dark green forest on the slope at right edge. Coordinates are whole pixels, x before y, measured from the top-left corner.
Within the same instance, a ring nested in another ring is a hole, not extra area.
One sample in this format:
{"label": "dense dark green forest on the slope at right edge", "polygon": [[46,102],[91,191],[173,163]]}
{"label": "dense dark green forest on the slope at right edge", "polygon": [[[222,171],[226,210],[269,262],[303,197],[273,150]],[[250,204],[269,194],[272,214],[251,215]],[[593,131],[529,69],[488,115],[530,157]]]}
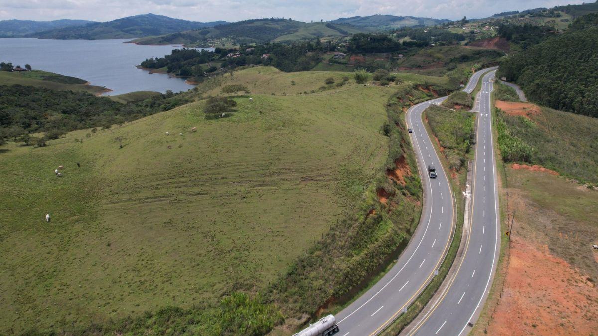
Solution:
{"label": "dense dark green forest on the slope at right edge", "polygon": [[598,14],[508,57],[499,76],[518,83],[530,100],[542,105],[598,117]]}

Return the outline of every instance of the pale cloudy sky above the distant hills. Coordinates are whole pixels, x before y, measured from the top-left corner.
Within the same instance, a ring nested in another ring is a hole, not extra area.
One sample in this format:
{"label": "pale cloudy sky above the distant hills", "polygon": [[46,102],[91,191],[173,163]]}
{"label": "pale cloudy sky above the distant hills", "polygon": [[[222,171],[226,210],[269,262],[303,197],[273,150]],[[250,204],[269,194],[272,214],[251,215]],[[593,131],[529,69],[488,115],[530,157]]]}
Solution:
{"label": "pale cloudy sky above the distant hills", "polygon": [[373,14],[456,20],[463,16],[475,19],[504,11],[581,3],[577,0],[0,0],[0,20],[106,22],[147,13],[200,22],[265,17],[310,22]]}

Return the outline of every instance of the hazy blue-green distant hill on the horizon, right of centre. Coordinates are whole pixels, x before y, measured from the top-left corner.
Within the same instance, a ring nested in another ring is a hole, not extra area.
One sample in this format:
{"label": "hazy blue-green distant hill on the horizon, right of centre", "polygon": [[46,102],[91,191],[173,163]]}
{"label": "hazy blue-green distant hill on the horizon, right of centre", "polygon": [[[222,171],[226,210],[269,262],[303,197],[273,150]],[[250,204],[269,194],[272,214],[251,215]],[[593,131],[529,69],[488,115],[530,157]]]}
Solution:
{"label": "hazy blue-green distant hill on the horizon, right of centre", "polygon": [[375,28],[380,30],[398,29],[413,26],[435,26],[451,22],[450,20],[428,19],[413,16],[392,16],[392,15],[373,15],[373,16],[354,16],[347,19],[337,19],[330,23],[338,25],[351,25],[360,28]]}

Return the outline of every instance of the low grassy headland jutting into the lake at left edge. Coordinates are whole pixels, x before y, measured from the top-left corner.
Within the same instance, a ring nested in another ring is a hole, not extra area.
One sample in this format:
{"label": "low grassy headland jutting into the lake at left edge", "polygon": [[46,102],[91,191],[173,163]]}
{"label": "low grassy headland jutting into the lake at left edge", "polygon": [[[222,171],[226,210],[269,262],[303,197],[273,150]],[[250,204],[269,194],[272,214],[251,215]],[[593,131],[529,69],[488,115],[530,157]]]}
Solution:
{"label": "low grassy headland jutting into the lake at left edge", "polygon": [[23,72],[0,71],[0,83],[3,85],[33,85],[36,87],[51,88],[53,90],[81,90],[89,93],[101,93],[106,90],[105,87],[87,85],[87,82],[80,78],[41,70]]}

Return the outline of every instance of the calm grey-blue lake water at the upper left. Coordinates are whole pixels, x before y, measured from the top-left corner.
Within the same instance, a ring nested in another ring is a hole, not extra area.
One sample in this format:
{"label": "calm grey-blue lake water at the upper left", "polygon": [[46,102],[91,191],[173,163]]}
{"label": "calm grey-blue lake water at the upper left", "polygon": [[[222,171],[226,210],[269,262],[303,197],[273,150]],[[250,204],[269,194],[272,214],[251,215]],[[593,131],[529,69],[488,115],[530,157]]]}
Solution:
{"label": "calm grey-blue lake water at the upper left", "polygon": [[126,41],[130,39],[1,38],[0,62],[22,67],[29,63],[33,69],[78,77],[93,85],[112,89],[105,94],[141,90],[164,93],[166,90],[178,92],[193,88],[182,78],[149,74],[135,67],[150,57],[164,57],[180,46],[123,43]]}

